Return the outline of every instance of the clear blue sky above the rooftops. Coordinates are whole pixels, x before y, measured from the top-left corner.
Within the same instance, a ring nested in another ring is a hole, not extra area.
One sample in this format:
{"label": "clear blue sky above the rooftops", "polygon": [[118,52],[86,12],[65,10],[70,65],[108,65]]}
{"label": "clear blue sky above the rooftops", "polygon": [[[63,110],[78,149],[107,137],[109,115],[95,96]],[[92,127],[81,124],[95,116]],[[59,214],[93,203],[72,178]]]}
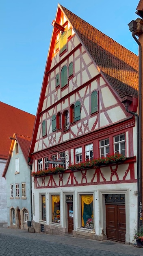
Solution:
{"label": "clear blue sky above the rooftops", "polygon": [[[61,0],[61,5],[138,54],[128,28],[139,0]],[[57,0],[0,3],[0,101],[36,115]]]}

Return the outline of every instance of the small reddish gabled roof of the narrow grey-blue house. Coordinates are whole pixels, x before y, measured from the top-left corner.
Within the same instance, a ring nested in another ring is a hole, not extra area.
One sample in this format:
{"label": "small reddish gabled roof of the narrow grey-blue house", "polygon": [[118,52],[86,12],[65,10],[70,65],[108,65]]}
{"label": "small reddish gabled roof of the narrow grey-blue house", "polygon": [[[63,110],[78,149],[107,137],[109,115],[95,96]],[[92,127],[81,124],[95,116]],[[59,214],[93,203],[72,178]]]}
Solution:
{"label": "small reddish gabled roof of the narrow grey-blue house", "polygon": [[[18,145],[20,146],[20,148],[22,150],[22,153],[23,153],[23,155],[25,157],[25,160],[27,162],[28,152],[29,152],[29,148],[30,148],[30,144],[31,144],[31,138],[27,137],[27,136],[24,136],[24,135],[20,135],[20,134],[15,134],[15,133],[13,134],[13,138],[16,139]],[[4,168],[2,177],[5,177],[7,169],[9,167],[9,162],[11,160],[11,154],[13,152],[13,146],[14,146],[15,139],[13,139],[11,141],[11,147],[10,147],[10,150],[9,150],[9,156],[8,156],[8,159],[7,159],[6,166]]]}

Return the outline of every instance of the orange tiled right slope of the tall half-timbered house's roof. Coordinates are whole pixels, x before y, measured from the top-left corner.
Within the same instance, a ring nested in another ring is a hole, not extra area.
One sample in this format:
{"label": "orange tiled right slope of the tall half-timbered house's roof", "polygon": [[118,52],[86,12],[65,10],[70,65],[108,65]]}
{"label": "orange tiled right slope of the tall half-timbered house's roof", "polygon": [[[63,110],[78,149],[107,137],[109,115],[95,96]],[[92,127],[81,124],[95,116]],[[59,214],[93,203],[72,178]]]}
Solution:
{"label": "orange tiled right slope of the tall half-timbered house's roof", "polygon": [[120,97],[138,95],[138,56],[61,6],[82,44]]}

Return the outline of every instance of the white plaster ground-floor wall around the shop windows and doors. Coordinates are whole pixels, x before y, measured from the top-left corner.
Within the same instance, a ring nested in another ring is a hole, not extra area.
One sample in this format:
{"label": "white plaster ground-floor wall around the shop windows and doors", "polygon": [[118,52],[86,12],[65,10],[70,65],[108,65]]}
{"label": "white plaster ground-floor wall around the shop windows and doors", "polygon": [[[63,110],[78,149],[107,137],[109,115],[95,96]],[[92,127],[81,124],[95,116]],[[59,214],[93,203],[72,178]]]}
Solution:
{"label": "white plaster ground-floor wall around the shop windows and doors", "polygon": [[[64,174],[65,175],[65,174]],[[70,186],[59,187],[51,189],[34,189],[34,182],[32,183],[32,193],[35,194],[35,216],[33,220],[39,222],[39,195],[44,193],[46,195],[46,224],[51,222],[50,216],[52,212],[52,204],[50,194],[60,194],[60,211],[61,211],[61,226],[65,227],[65,194],[73,194],[73,207],[74,207],[74,229],[80,230],[81,226],[81,207],[80,207],[80,194],[93,194],[93,209],[95,221],[95,234],[102,235],[104,229],[102,194],[108,193],[123,193],[126,194],[126,242],[132,243],[134,229],[137,225],[137,195],[134,191],[137,190],[137,183],[122,183],[121,184],[99,184],[91,186]],[[102,193],[101,193],[102,191]],[[104,216],[106,214],[104,213]],[[82,230],[83,231],[83,230]],[[106,230],[104,230],[106,234]]]}

